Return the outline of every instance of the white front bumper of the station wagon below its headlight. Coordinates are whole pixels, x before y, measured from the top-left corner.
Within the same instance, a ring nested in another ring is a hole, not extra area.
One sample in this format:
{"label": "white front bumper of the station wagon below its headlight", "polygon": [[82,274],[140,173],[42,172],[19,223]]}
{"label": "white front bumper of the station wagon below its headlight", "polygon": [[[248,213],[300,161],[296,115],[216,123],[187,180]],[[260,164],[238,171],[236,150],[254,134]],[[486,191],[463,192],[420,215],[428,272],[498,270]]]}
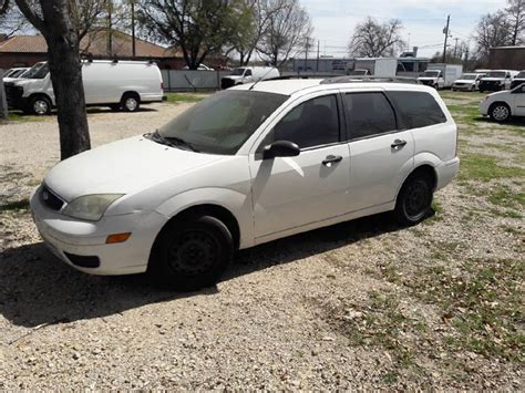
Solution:
{"label": "white front bumper of the station wagon below its headlight", "polygon": [[[151,249],[167,221],[166,217],[156,211],[141,211],[103,217],[96,223],[81,221],[43,206],[39,192],[40,187],[31,195],[31,214],[45,245],[62,261],[97,276],[134,275],[147,270]],[[105,244],[109,235],[122,232],[132,232],[132,236],[125,242]],[[83,257],[96,257],[97,266],[82,266]]]}

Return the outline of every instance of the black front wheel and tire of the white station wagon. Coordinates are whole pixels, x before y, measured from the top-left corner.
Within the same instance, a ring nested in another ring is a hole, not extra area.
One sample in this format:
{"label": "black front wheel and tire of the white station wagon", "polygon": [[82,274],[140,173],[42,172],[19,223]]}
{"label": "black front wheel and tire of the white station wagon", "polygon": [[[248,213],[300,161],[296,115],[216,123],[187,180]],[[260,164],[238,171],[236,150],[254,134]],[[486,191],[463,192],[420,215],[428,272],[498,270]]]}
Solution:
{"label": "black front wheel and tire of the white station wagon", "polygon": [[174,290],[195,291],[215,285],[233,255],[234,238],[223,221],[206,215],[184,216],[156,239],[148,272]]}

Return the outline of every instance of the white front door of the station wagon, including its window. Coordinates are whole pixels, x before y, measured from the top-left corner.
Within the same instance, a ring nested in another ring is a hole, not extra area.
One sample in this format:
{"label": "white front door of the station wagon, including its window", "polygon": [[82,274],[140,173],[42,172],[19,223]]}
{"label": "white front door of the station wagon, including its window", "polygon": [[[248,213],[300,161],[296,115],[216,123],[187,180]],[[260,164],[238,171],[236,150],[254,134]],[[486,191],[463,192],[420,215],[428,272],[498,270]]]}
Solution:
{"label": "white front door of the station wagon, including its window", "polygon": [[[338,105],[336,94],[296,104],[250,156],[256,242],[348,211],[350,162]],[[262,159],[276,141],[296,143],[300,155]]]}

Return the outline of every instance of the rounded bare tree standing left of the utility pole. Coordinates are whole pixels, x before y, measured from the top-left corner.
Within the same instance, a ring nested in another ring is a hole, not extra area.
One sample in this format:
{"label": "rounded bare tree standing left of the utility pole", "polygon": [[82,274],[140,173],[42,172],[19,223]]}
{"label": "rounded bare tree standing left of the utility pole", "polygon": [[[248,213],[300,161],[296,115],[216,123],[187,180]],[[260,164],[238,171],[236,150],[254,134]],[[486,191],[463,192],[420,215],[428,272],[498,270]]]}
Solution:
{"label": "rounded bare tree standing left of the utility pole", "polygon": [[402,29],[403,24],[398,19],[379,23],[368,17],[356,27],[349,51],[352,55],[363,58],[392,56],[406,45],[401,38]]}

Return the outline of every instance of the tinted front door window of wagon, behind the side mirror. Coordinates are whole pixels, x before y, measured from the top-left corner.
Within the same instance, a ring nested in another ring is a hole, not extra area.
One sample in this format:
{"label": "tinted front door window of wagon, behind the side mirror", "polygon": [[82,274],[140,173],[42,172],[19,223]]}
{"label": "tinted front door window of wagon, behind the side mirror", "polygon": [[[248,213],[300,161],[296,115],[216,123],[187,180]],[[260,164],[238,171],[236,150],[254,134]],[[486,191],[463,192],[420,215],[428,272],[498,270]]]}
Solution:
{"label": "tinted front door window of wagon, behind the side mirror", "polygon": [[290,141],[301,149],[338,143],[339,115],[336,95],[307,101],[282,117],[262,143]]}

